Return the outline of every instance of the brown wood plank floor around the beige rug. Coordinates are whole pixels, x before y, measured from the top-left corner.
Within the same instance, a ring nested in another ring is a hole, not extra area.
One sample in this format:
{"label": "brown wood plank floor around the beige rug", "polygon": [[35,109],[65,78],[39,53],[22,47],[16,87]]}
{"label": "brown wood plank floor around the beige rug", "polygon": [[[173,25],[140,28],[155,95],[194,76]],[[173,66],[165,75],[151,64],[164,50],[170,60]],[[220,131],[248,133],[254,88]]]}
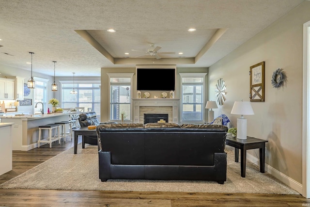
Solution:
{"label": "brown wood plank floor around the beige rug", "polygon": [[[0,183],[22,174],[72,146],[73,142],[67,141],[66,143],[62,142],[60,145],[53,143],[52,148],[49,148],[46,144],[27,152],[14,151],[13,170],[0,175]],[[0,206],[302,207],[310,206],[310,199],[306,199],[301,195],[287,194],[0,189]]]}

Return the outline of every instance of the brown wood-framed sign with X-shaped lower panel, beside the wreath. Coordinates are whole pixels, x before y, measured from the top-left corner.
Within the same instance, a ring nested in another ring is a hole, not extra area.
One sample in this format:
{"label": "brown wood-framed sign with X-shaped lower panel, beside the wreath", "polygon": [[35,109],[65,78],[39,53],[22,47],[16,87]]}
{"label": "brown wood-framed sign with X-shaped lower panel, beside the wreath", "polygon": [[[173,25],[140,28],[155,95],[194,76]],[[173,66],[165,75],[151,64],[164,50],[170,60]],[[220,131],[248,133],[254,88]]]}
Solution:
{"label": "brown wood-framed sign with X-shaped lower panel, beside the wreath", "polygon": [[265,62],[250,66],[250,101],[265,101]]}

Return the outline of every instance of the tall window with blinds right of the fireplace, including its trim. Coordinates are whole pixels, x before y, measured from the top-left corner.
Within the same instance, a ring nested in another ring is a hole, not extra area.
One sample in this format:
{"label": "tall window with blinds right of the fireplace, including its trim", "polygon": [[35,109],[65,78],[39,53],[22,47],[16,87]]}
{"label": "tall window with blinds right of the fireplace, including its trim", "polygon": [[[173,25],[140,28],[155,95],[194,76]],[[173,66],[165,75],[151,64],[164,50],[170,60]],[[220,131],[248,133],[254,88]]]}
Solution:
{"label": "tall window with blinds right of the fireplace, including its trim", "polygon": [[181,122],[204,120],[204,79],[206,73],[180,73]]}

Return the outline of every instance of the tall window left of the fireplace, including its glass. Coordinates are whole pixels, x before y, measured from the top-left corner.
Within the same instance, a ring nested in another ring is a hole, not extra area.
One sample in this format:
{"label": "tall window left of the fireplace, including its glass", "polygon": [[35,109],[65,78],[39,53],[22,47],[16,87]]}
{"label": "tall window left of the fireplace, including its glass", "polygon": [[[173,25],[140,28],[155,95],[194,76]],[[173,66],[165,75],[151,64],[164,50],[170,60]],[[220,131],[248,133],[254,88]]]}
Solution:
{"label": "tall window left of the fireplace, including its glass", "polygon": [[109,120],[131,120],[131,89],[133,73],[109,75]]}

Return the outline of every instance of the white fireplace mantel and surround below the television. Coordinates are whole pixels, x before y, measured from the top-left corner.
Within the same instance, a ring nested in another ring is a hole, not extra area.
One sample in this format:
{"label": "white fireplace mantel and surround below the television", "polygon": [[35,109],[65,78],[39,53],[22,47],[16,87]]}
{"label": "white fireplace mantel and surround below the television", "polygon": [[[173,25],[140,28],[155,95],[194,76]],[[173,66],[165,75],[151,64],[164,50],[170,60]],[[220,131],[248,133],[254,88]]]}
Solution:
{"label": "white fireplace mantel and surround below the television", "polygon": [[[179,123],[179,102],[180,98],[132,98],[133,103],[133,121],[134,123],[140,122],[140,107],[172,107],[172,122]],[[150,111],[151,112],[151,111]]]}

